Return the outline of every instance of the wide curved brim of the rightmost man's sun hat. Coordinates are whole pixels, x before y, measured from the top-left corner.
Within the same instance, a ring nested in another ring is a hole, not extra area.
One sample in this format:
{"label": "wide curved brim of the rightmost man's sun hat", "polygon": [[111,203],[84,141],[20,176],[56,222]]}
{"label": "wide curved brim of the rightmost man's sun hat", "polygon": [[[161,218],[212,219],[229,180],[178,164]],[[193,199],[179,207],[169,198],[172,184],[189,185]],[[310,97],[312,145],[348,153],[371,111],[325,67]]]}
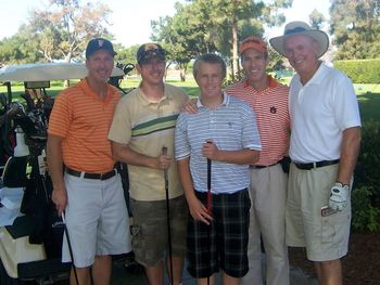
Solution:
{"label": "wide curved brim of the rightmost man's sun hat", "polygon": [[325,31],[321,30],[305,30],[300,33],[294,33],[290,35],[284,35],[280,37],[275,37],[269,40],[270,46],[280,54],[287,57],[286,55],[286,49],[284,49],[284,41],[292,36],[296,35],[304,35],[313,38],[315,41],[318,42],[318,50],[317,50],[317,56],[318,59],[322,56],[328,48],[329,48],[329,37]]}

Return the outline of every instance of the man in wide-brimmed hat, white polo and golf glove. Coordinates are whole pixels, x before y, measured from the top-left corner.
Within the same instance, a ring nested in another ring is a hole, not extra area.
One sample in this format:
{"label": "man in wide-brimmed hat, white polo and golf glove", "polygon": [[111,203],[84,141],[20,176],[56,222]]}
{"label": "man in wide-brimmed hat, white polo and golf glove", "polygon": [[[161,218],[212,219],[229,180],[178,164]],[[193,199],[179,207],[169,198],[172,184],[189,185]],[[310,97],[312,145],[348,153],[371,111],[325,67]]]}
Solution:
{"label": "man in wide-brimmed hat, white polo and golf glove", "polygon": [[269,42],[297,73],[289,99],[287,244],[306,247],[320,284],[342,284],[340,259],[347,252],[360,144],[357,99],[349,77],[319,60],[329,47],[326,33],[291,22]]}

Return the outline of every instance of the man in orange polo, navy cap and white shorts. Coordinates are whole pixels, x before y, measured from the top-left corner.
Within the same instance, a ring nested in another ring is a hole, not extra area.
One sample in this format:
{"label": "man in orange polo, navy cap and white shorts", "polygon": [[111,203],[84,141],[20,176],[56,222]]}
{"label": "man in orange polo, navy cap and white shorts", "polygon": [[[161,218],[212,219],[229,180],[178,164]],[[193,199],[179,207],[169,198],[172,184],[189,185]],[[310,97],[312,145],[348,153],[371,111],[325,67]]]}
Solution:
{"label": "man in orange polo, navy cap and white shorts", "polygon": [[[110,284],[111,255],[130,251],[122,180],[114,169],[109,129],[121,94],[107,83],[115,51],[102,38],[86,49],[88,75],[62,91],[54,103],[48,137],[52,200],[65,221],[80,285]],[[71,260],[66,236],[62,261]],[[72,272],[73,273],[73,272]],[[76,284],[74,274],[71,284]]]}

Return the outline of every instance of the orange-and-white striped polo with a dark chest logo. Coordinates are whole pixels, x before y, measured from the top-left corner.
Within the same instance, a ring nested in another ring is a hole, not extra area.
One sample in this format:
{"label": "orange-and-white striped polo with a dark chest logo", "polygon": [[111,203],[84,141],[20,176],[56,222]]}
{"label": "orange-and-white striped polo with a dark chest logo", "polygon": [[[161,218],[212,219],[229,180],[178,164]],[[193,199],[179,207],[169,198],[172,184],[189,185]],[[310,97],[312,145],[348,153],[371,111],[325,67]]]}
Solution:
{"label": "orange-and-white striped polo with a dark chest logo", "polygon": [[268,79],[269,86],[263,91],[257,91],[246,80],[226,88],[228,94],[249,103],[256,114],[262,151],[255,165],[259,166],[276,164],[289,148],[289,88],[270,76]]}

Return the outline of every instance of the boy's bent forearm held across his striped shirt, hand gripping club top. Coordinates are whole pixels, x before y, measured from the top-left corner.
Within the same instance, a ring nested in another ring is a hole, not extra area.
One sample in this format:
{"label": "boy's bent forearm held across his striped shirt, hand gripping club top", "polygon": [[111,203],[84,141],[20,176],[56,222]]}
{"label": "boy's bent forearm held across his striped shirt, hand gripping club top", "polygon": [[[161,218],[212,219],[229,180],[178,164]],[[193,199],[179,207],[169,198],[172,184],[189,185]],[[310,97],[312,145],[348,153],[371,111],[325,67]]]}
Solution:
{"label": "boy's bent forearm held across his striped shirt, hand gripping club top", "polygon": [[202,153],[212,160],[236,165],[252,165],[255,164],[259,157],[259,151],[255,150],[220,151],[212,141],[203,144]]}

